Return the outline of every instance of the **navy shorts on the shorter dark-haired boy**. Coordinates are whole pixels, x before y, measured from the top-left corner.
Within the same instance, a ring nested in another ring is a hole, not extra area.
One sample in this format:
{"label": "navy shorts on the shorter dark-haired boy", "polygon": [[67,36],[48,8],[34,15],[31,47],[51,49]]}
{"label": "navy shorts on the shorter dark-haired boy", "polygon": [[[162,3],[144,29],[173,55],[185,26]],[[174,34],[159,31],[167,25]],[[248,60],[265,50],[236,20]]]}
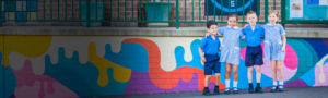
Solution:
{"label": "navy shorts on the shorter dark-haired boy", "polygon": [[207,62],[204,62],[204,75],[212,75],[212,73],[220,73],[220,57],[219,54],[204,54]]}

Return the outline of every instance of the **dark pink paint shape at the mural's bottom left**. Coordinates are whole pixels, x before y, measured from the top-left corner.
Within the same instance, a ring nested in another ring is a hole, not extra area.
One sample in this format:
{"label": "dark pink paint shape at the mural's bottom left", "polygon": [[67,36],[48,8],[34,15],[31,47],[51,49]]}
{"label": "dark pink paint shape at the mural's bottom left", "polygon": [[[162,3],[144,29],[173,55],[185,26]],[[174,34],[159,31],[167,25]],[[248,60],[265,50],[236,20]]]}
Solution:
{"label": "dark pink paint shape at the mural's bottom left", "polygon": [[26,60],[22,70],[13,70],[16,76],[17,98],[77,98],[77,94],[47,75],[33,73],[32,62]]}

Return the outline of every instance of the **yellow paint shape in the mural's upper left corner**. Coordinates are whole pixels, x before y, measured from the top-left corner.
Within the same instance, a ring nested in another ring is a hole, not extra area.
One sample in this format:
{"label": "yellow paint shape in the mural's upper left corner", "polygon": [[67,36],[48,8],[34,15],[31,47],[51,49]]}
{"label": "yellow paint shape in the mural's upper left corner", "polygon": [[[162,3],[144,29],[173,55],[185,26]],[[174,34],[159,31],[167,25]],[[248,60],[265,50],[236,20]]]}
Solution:
{"label": "yellow paint shape in the mural's upper left corner", "polygon": [[36,58],[44,54],[48,50],[51,39],[51,36],[1,36],[0,50],[3,53],[2,64],[9,65],[9,56],[11,52],[17,52],[28,58]]}

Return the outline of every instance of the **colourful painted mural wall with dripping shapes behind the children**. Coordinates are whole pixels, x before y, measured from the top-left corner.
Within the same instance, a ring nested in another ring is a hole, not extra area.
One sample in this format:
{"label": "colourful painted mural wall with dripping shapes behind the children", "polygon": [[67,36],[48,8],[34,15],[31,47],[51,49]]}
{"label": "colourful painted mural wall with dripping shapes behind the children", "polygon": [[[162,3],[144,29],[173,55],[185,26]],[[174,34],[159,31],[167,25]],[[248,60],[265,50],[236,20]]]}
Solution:
{"label": "colourful painted mural wall with dripping shapes behind the children", "polygon": [[[200,37],[1,36],[0,95],[75,98],[202,90],[199,44]],[[242,41],[242,89],[248,84],[245,46]],[[328,39],[289,38],[283,66],[286,87],[328,86]],[[262,87],[272,84],[270,69],[265,61]]]}

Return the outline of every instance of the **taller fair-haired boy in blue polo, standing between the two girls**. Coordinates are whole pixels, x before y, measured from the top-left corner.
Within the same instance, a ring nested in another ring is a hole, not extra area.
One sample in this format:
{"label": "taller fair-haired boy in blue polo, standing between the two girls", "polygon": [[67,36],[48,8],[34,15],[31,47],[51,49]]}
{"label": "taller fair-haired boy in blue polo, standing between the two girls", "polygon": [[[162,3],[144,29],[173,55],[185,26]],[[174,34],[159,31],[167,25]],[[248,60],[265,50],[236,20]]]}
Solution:
{"label": "taller fair-haired boy in blue polo, standing between the two girls", "polygon": [[253,87],[253,70],[256,70],[256,88],[255,93],[262,93],[260,87],[261,81],[261,65],[263,64],[262,60],[262,48],[261,48],[261,37],[265,36],[265,28],[257,25],[257,15],[256,12],[249,11],[247,13],[248,26],[246,26],[242,33],[246,36],[246,58],[245,65],[248,68],[247,76],[249,88],[248,93],[254,93]]}

